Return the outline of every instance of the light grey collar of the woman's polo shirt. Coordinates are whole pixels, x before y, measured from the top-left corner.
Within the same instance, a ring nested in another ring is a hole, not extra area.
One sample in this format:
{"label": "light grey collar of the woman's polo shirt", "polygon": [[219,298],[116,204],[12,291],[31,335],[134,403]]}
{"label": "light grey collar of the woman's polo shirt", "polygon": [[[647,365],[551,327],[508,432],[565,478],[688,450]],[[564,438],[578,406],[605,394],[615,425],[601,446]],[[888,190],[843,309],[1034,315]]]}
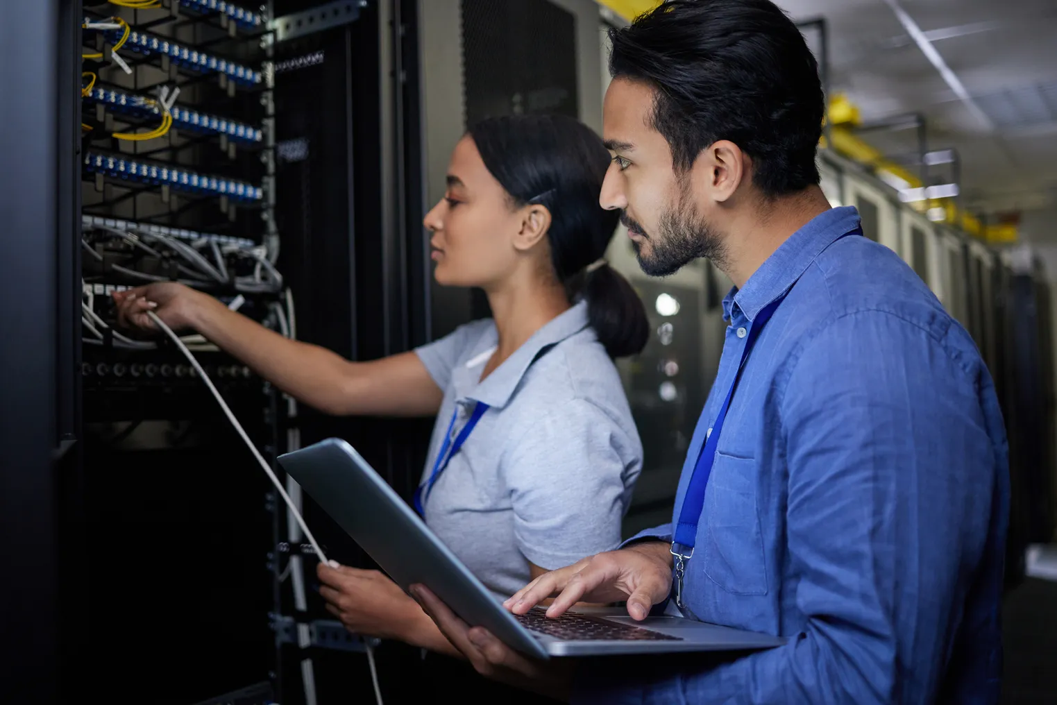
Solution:
{"label": "light grey collar of the woman's polo shirt", "polygon": [[[588,304],[586,301],[575,303],[571,309],[561,313],[557,317],[548,321],[542,328],[533,333],[532,337],[514,351],[514,354],[503,360],[502,365],[493,370],[492,374],[484,378],[484,382],[472,387],[472,383],[480,378],[481,369],[487,363],[490,354],[476,355],[469,364],[458,370],[461,375],[466,375],[468,383],[464,389],[470,391],[465,396],[483,402],[492,408],[502,408],[511,401],[514,391],[520,384],[532,364],[545,349],[549,349],[568,337],[579,333],[589,324]],[[488,345],[494,346],[496,340]]]}

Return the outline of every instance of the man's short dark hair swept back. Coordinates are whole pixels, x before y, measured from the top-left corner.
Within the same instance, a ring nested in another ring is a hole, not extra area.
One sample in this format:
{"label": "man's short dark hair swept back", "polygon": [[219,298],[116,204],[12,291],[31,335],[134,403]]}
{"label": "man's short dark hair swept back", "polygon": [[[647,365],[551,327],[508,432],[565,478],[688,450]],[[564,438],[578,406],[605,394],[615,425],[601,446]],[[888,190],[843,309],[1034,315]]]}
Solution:
{"label": "man's short dark hair swept back", "polygon": [[656,93],[652,127],[668,141],[676,172],[729,140],[752,157],[764,194],[818,184],[818,63],[769,0],[669,0],[609,36],[610,74]]}

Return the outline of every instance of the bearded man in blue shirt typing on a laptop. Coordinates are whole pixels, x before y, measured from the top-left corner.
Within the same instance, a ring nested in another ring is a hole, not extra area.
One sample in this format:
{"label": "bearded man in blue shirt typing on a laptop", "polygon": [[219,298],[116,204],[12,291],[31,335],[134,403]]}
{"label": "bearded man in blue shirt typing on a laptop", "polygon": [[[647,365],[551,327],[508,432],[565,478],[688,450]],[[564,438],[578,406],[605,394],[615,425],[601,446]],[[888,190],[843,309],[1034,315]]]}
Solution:
{"label": "bearded man in blue shirt typing on a laptop", "polygon": [[601,204],[648,274],[707,257],[729,275],[730,324],[672,524],[506,606],[626,599],[642,619],[670,599],[789,641],[556,669],[412,592],[478,670],[577,702],[997,702],[998,402],[965,331],[819,189],[803,38],[768,0],[672,0],[612,39]]}

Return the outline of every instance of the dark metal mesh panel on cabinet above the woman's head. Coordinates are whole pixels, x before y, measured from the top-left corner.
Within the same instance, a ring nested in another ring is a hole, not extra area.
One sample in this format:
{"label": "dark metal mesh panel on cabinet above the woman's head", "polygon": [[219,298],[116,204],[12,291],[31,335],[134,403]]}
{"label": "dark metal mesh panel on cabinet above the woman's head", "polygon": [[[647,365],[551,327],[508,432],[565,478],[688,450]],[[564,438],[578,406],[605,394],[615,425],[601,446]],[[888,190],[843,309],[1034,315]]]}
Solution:
{"label": "dark metal mesh panel on cabinet above the woman's head", "polygon": [[548,0],[463,0],[466,125],[520,113],[577,114],[576,18]]}

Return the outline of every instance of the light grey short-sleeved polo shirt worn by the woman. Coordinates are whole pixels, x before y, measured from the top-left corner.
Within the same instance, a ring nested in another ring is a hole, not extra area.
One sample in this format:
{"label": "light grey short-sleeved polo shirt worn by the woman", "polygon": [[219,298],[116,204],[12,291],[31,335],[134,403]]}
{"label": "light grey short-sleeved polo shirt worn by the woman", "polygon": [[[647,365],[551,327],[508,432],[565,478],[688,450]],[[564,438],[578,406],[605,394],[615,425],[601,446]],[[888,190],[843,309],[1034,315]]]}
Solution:
{"label": "light grey short-sleeved polo shirt worn by the woman", "polygon": [[426,523],[498,597],[615,548],[643,447],[616,367],[575,304],[481,381],[498,333],[479,320],[415,350],[444,402],[424,483],[452,413],[488,405],[424,499]]}

